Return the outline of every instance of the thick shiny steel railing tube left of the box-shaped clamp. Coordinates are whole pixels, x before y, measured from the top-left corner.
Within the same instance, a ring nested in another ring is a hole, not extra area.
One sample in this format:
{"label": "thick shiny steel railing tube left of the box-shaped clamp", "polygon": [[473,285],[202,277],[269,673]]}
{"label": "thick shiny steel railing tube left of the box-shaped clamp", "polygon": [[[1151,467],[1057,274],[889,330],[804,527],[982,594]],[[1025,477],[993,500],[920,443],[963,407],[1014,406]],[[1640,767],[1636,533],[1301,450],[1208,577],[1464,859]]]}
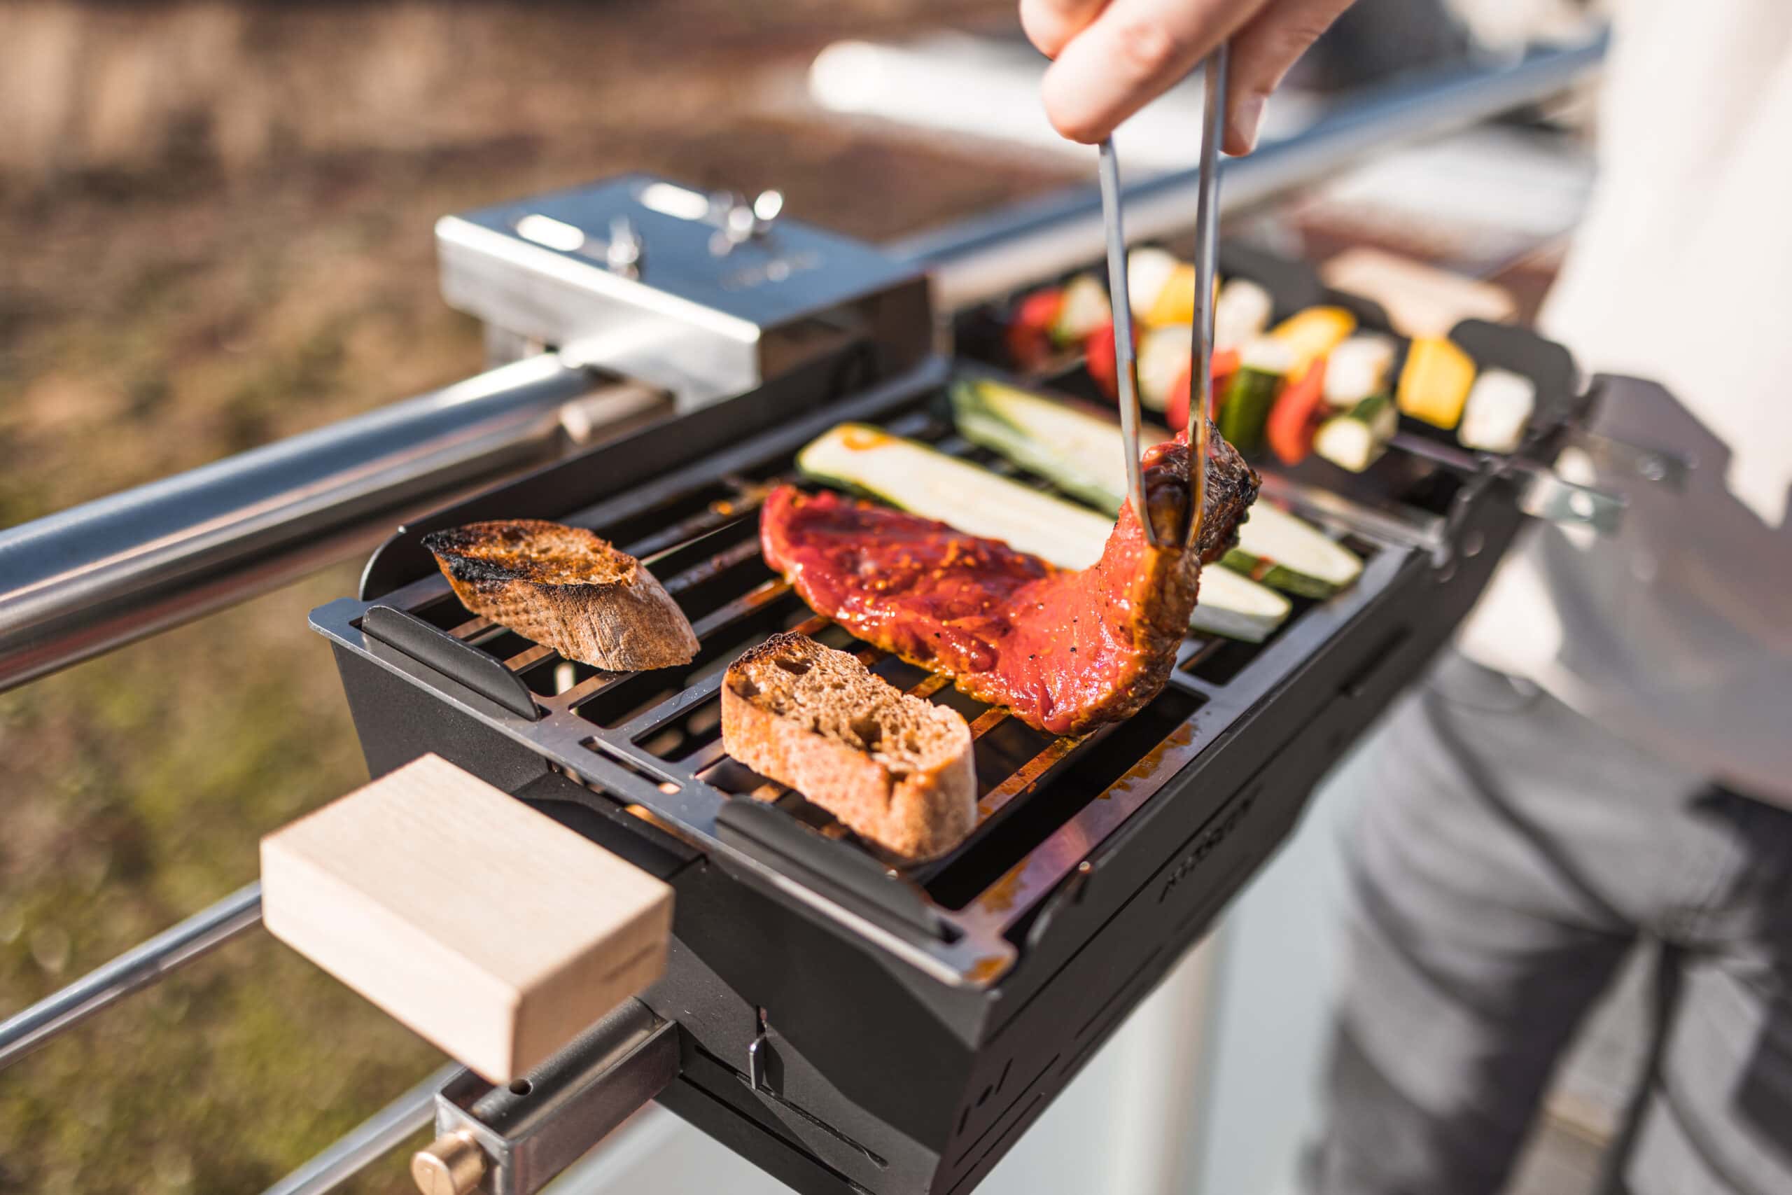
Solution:
{"label": "thick shiny steel railing tube left of the box-shaped clamp", "polygon": [[652,398],[530,357],[0,530],[0,690],[364,550],[405,512],[548,460]]}

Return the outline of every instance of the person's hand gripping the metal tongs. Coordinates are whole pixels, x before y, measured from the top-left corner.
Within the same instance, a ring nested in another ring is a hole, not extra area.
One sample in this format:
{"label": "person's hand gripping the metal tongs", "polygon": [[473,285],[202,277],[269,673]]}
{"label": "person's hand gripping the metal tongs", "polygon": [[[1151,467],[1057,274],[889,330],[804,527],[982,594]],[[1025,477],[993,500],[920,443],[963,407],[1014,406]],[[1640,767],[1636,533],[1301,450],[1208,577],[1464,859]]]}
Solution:
{"label": "person's hand gripping the metal tongs", "polygon": [[1020,23],[1054,59],[1045,115],[1093,145],[1231,39],[1226,152],[1256,149],[1263,102],[1351,0],[1020,0]]}

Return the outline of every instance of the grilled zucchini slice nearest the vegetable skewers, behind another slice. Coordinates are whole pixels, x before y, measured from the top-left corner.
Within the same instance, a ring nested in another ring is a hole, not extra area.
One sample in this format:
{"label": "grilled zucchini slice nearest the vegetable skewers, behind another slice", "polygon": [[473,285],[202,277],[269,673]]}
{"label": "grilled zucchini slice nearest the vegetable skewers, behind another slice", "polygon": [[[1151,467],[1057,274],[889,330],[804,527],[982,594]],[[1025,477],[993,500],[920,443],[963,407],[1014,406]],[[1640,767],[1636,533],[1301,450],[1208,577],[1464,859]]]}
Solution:
{"label": "grilled zucchini slice nearest the vegetable skewers, behind another slice", "polygon": [[[1125,503],[1125,460],[1113,421],[982,380],[955,382],[952,410],[964,439],[1002,453],[1066,494],[1107,514],[1118,514]],[[1140,428],[1140,443],[1168,437],[1163,428]],[[1269,502],[1251,507],[1251,518],[1238,527],[1238,546],[1220,563],[1253,580],[1314,598],[1331,597],[1362,575],[1355,552]]]}

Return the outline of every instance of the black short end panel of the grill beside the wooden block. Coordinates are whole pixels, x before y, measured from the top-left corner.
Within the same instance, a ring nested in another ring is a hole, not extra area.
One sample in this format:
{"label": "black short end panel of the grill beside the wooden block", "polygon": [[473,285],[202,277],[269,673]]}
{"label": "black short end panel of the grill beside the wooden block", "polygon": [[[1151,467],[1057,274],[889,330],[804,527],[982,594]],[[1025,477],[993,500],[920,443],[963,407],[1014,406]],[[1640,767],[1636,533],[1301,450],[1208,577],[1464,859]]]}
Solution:
{"label": "black short end panel of the grill beside the wooden block", "polygon": [[[710,1098],[668,1105],[706,1131],[753,1120],[715,1132],[737,1148],[772,1134],[866,1190],[932,1190],[993,994],[919,975],[713,860],[677,901],[667,978],[643,1000],[677,1019],[685,1080]],[[747,1055],[760,1034],[765,1089]]]}

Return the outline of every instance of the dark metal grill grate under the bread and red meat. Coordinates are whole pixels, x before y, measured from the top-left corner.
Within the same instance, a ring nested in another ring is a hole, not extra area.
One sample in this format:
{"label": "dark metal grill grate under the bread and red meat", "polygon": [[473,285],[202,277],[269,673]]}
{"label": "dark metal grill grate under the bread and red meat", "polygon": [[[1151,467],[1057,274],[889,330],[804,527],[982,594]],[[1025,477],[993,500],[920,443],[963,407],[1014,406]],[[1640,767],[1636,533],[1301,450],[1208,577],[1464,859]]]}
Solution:
{"label": "dark metal grill grate under the bread and red meat", "polygon": [[[943,410],[937,394],[910,392],[907,401],[891,403],[871,421],[943,451],[995,464],[955,435]],[[1294,616],[1263,643],[1190,634],[1170,684],[1143,713],[1122,727],[1050,738],[1002,709],[964,697],[946,679],[855,640],[814,615],[771,573],[760,559],[758,511],[772,486],[796,478],[790,437],[774,439],[781,441],[778,448],[747,468],[704,475],[702,466],[694,466],[686,471],[690,477],[677,475],[686,484],[665,478],[667,484],[638,494],[634,503],[609,500],[563,516],[642,559],[679,602],[701,643],[697,658],[683,668],[618,674],[566,661],[548,647],[471,616],[441,577],[412,582],[382,604],[412,613],[502,661],[543,711],[538,722],[507,722],[507,733],[529,740],[586,787],[643,806],[659,824],[699,846],[728,847],[717,831],[724,803],[762,801],[824,840],[828,849],[869,855],[946,930],[939,941],[892,944],[910,957],[919,951],[919,960],[964,982],[993,982],[1012,960],[1009,935],[1029,910],[1385,588],[1407,557],[1396,545],[1353,537],[1351,546],[1367,564],[1353,589],[1326,604],[1296,600]],[[726,756],[720,744],[722,674],[740,652],[785,629],[853,650],[892,684],[952,704],[971,720],[980,819],[962,846],[941,860],[898,867],[799,794]],[[371,641],[355,645],[394,663]]]}

